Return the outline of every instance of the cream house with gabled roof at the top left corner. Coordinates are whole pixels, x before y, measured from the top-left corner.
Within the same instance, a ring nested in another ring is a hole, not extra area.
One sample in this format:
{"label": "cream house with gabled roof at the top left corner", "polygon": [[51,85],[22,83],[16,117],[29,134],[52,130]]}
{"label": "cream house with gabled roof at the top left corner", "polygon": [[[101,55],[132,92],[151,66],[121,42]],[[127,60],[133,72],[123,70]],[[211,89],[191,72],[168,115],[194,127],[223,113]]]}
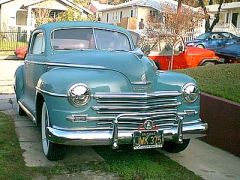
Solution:
{"label": "cream house with gabled roof at the top left corner", "polygon": [[93,14],[88,9],[70,0],[0,0],[0,31],[30,31],[35,28],[36,9],[51,10],[54,18],[57,13],[66,11],[68,7],[82,12],[83,16]]}

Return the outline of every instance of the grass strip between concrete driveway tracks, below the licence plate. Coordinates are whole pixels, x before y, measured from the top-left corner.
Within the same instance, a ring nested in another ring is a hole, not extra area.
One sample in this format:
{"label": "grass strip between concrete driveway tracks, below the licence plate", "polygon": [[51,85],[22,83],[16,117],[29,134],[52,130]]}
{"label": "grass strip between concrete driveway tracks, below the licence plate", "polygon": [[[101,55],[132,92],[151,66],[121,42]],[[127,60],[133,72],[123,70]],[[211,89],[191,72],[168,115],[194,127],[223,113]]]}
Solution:
{"label": "grass strip between concrete driveway tracks, below the licence plate", "polygon": [[125,147],[114,151],[110,147],[95,147],[106,160],[106,168],[123,179],[201,179],[156,150],[132,150]]}

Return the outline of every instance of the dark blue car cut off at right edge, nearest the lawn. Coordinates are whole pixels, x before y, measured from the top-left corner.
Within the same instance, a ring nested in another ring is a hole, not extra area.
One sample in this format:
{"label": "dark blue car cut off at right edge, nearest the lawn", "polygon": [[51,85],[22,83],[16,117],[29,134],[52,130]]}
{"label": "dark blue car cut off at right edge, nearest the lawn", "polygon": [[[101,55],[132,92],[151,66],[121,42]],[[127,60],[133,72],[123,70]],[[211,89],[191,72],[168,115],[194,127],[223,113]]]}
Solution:
{"label": "dark blue car cut off at right edge, nearest the lawn", "polygon": [[218,49],[216,54],[223,58],[225,63],[240,63],[240,42]]}

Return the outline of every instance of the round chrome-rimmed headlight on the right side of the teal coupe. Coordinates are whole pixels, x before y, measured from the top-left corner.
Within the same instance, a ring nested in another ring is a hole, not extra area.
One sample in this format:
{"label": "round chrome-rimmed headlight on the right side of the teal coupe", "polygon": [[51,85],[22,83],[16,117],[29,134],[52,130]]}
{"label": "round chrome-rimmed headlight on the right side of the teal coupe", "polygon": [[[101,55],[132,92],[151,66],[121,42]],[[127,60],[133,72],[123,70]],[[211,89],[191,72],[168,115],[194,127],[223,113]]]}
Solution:
{"label": "round chrome-rimmed headlight on the right side of the teal coupe", "polygon": [[200,91],[195,84],[188,83],[183,86],[182,93],[188,103],[193,103],[198,99]]}

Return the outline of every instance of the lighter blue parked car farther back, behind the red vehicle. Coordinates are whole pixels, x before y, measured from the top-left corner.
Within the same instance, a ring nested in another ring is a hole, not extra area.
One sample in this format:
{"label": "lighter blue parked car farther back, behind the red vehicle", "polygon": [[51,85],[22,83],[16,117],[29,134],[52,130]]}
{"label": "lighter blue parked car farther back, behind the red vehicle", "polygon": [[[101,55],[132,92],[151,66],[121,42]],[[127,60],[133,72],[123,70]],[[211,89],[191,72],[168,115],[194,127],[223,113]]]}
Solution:
{"label": "lighter blue parked car farther back, behind the red vehicle", "polygon": [[193,41],[186,43],[187,46],[216,50],[226,45],[240,42],[240,37],[229,32],[207,32],[199,35]]}

